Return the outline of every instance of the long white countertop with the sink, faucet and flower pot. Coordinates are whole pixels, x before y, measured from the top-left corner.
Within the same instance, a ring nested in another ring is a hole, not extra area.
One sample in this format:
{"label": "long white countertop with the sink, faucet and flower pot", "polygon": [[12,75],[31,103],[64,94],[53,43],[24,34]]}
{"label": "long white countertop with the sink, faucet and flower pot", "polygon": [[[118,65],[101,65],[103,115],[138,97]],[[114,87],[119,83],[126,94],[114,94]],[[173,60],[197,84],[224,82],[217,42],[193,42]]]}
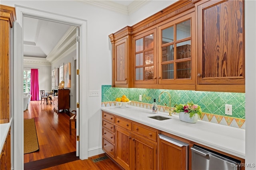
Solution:
{"label": "long white countertop with the sink, faucet and flower pot", "polygon": [[169,117],[168,113],[151,113],[150,109],[135,106],[126,108],[102,107],[103,111],[122,116],[124,118],[142,123],[155,129],[200,143],[207,147],[226,152],[245,159],[245,130],[217,123],[210,123],[198,120],[197,123],[186,123],[179,120],[177,115],[172,115],[172,119],[156,120],[149,118],[152,115],[162,115]]}

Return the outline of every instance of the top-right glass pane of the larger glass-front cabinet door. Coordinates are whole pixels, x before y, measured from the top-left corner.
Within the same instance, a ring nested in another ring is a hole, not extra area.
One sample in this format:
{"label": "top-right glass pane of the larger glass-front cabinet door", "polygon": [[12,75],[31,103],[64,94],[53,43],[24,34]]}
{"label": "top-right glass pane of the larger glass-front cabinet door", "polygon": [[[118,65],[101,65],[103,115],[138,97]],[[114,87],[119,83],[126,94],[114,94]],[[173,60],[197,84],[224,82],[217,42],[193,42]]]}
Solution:
{"label": "top-right glass pane of the larger glass-front cabinet door", "polygon": [[176,25],[176,40],[184,39],[191,36],[190,20],[183,21]]}

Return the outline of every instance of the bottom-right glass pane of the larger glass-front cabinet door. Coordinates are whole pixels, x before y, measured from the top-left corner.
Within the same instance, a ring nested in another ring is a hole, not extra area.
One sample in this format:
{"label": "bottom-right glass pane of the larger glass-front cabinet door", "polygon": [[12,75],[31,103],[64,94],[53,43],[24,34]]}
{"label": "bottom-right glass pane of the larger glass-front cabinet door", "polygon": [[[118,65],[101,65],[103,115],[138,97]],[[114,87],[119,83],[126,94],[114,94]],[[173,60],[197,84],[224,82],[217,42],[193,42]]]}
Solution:
{"label": "bottom-right glass pane of the larger glass-front cabinet door", "polygon": [[191,61],[176,63],[176,78],[191,78]]}

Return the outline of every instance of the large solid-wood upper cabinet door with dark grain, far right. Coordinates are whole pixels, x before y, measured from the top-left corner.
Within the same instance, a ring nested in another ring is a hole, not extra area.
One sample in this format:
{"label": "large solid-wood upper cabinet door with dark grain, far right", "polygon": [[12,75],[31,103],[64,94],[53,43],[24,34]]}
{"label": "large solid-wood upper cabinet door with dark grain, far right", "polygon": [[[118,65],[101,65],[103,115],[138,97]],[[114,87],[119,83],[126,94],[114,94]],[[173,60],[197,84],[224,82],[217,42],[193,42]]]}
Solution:
{"label": "large solid-wood upper cabinet door with dark grain, far right", "polygon": [[244,0],[199,1],[196,90],[245,92]]}

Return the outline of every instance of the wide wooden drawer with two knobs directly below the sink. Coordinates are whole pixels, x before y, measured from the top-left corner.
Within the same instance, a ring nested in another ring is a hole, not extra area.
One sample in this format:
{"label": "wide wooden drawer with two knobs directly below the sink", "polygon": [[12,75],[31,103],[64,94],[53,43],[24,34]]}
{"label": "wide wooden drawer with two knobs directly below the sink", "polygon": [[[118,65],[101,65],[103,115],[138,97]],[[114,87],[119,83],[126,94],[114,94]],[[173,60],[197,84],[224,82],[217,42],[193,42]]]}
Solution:
{"label": "wide wooden drawer with two knobs directly below the sink", "polygon": [[132,131],[156,142],[157,130],[149,129],[148,127],[144,127],[136,123],[133,123]]}

